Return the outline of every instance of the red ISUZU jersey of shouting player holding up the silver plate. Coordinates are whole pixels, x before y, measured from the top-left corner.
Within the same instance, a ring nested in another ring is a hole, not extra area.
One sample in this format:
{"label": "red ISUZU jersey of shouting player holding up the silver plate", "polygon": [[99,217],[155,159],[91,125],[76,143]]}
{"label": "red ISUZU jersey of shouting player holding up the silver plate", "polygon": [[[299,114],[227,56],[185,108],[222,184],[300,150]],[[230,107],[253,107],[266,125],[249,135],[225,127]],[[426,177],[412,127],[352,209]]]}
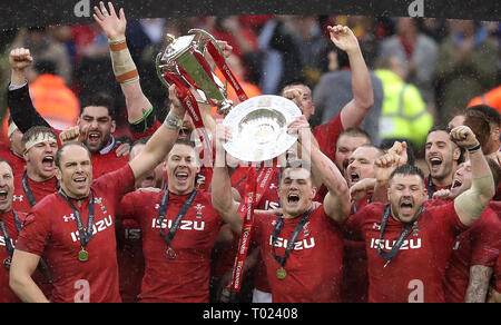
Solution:
{"label": "red ISUZU jersey of shouting player holding up the silver plate", "polygon": [[[285,247],[301,217],[284,219],[275,243],[275,254],[284,256]],[[281,265],[272,255],[272,235],[278,217],[256,214],[253,240],[259,244],[274,303],[341,302],[343,238],[338,226],[325,214],[323,206],[313,210],[295,240],[285,263],[287,273],[278,279]]]}

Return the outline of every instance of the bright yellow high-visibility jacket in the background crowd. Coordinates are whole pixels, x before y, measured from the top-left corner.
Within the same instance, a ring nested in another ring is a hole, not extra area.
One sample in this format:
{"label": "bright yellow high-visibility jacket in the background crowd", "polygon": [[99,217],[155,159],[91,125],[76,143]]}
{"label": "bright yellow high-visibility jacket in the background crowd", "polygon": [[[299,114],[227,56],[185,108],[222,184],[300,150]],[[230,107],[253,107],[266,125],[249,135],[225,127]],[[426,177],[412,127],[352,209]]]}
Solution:
{"label": "bright yellow high-visibility jacket in the background crowd", "polygon": [[383,106],[380,117],[381,139],[409,139],[418,148],[424,146],[433,126],[419,89],[405,83],[396,73],[380,69],[374,71],[383,83]]}

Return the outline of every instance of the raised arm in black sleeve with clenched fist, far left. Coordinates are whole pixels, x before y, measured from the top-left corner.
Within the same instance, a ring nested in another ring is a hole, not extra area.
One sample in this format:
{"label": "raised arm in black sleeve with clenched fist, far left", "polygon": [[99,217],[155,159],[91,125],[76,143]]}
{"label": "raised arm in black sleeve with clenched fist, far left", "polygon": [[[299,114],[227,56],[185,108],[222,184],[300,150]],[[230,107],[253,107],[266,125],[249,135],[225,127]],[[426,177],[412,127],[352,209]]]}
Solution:
{"label": "raised arm in black sleeve with clenched fist, far left", "polygon": [[7,104],[13,122],[22,134],[35,126],[50,128],[50,125],[38,114],[31,101],[24,70],[32,62],[33,58],[29,49],[17,48],[10,51],[9,65],[11,75],[7,92]]}

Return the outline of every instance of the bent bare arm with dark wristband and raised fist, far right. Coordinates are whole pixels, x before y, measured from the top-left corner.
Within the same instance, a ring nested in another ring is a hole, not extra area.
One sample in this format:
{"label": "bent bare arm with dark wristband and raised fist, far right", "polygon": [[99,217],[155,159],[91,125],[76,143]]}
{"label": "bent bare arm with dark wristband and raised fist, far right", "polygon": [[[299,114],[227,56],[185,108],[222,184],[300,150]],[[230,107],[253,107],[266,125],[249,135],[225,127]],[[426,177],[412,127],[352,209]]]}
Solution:
{"label": "bent bare arm with dark wristband and raised fist, far right", "polygon": [[494,196],[494,180],[489,164],[483,156],[479,140],[466,126],[451,130],[451,139],[468,149],[472,169],[471,187],[454,199],[454,208],[465,226],[471,226],[489,206]]}

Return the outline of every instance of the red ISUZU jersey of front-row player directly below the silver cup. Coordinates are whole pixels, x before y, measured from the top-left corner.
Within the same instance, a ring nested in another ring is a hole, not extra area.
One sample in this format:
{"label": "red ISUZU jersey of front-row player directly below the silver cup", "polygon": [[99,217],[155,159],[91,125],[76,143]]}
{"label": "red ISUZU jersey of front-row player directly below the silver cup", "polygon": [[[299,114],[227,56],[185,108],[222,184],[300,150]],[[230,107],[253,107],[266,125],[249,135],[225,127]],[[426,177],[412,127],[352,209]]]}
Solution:
{"label": "red ISUZU jersey of front-row player directly below the silver cup", "polygon": [[[169,259],[158,218],[163,195],[164,191],[139,189],[120,203],[118,216],[134,217],[143,234],[145,276],[139,301],[207,303],[210,254],[223,219],[213,208],[210,194],[198,190],[170,244],[177,256]],[[188,197],[169,193],[167,213],[161,223],[165,235]]]}

